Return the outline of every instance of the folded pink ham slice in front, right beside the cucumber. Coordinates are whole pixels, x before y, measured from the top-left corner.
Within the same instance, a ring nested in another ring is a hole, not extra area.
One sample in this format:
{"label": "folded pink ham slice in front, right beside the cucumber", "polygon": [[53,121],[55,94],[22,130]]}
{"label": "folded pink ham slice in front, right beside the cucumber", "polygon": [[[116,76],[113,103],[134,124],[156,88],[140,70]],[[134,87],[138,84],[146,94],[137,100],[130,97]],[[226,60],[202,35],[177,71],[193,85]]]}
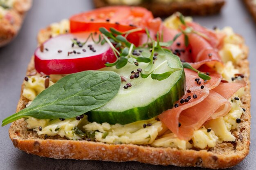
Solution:
{"label": "folded pink ham slice in front, right beside the cucumber", "polygon": [[[197,77],[195,72],[185,69],[185,74],[187,89],[191,92],[186,92],[182,99],[186,99],[189,95],[191,99],[183,104],[179,101],[178,107],[166,110],[158,117],[178,138],[189,140],[194,130],[200,128],[205,121],[226,115],[231,109],[227,98],[246,83],[241,80],[236,83],[220,84],[221,76],[211,73],[211,80],[198,85],[194,80]],[[229,86],[232,88],[228,88]],[[195,93],[197,97],[194,99]]]}

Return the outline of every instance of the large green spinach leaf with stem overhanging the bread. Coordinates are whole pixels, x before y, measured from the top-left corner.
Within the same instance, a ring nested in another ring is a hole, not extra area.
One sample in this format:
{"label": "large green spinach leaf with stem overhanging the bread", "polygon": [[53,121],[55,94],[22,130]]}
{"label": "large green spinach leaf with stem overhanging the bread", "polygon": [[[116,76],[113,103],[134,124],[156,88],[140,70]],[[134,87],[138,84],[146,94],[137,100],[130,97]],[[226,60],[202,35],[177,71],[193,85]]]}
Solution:
{"label": "large green spinach leaf with stem overhanging the bread", "polygon": [[56,119],[82,115],[110,101],[120,86],[120,76],[112,71],[67,75],[40,93],[27,108],[4,119],[2,126],[27,116]]}

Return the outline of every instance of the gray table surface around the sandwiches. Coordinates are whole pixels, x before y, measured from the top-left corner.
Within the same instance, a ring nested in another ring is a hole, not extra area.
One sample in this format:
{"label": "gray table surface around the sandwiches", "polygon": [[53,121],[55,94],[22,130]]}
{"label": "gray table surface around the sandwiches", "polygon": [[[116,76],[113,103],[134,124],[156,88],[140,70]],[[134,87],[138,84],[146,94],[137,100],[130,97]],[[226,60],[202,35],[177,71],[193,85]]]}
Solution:
{"label": "gray table surface around the sandwiches", "polygon": [[[34,0],[33,7],[16,39],[8,46],[0,48],[0,121],[15,113],[20,96],[20,85],[26,73],[27,64],[36,48],[36,35],[40,28],[72,14],[93,8],[90,0]],[[249,15],[242,0],[227,0],[222,13],[210,17],[195,17],[194,20],[203,26],[213,28],[231,26],[236,33],[243,35],[249,46],[250,69],[252,81],[252,132],[249,155],[233,170],[256,169],[256,24]],[[8,135],[9,125],[0,127],[0,170],[72,170],[72,169],[173,169],[200,170],[204,168],[180,168],[175,166],[153,166],[138,162],[113,163],[104,161],[79,161],[71,159],[50,159],[29,155],[13,147]]]}

